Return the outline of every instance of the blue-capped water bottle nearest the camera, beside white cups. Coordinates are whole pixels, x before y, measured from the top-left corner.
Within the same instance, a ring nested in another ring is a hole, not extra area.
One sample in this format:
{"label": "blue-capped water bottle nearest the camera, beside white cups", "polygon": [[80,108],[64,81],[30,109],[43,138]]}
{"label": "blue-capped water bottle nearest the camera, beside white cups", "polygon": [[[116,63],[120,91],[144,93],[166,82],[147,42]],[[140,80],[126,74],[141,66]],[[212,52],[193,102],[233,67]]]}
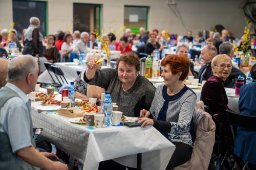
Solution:
{"label": "blue-capped water bottle nearest the camera, beside white cups", "polygon": [[106,94],[103,102],[104,126],[112,126],[112,101],[110,94]]}

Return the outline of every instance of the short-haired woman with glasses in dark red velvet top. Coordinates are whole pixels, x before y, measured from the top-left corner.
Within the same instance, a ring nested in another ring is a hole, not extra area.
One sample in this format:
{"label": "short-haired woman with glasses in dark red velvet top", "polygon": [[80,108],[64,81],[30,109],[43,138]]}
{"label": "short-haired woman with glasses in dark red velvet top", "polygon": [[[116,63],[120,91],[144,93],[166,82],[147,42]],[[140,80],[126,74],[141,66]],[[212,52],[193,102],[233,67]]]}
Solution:
{"label": "short-haired woman with glasses in dark red velvet top", "polygon": [[227,139],[231,145],[231,132],[228,126],[226,109],[228,109],[228,99],[224,88],[224,82],[229,76],[232,69],[232,61],[226,55],[218,55],[211,61],[211,68],[214,75],[211,75],[205,82],[202,92],[201,101],[208,106],[212,112],[212,116],[217,121],[216,134],[220,135],[221,139]]}

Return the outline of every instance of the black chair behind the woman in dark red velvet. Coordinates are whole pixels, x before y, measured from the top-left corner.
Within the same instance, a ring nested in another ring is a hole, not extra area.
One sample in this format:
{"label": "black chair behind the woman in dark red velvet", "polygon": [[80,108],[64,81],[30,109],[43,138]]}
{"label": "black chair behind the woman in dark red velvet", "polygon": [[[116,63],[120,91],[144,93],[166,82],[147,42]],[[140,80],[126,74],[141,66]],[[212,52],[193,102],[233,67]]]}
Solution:
{"label": "black chair behind the woman in dark red velvet", "polygon": [[[232,132],[233,139],[235,140],[236,134],[234,133],[233,126],[243,128],[248,131],[256,131],[256,116],[251,116],[251,115],[245,115],[245,114],[240,114],[236,113],[231,110],[226,110],[227,113],[227,120],[230,126],[230,130]],[[243,147],[243,146],[241,146]],[[248,161],[245,161],[245,165],[242,170],[245,170],[245,168],[248,168]]]}

